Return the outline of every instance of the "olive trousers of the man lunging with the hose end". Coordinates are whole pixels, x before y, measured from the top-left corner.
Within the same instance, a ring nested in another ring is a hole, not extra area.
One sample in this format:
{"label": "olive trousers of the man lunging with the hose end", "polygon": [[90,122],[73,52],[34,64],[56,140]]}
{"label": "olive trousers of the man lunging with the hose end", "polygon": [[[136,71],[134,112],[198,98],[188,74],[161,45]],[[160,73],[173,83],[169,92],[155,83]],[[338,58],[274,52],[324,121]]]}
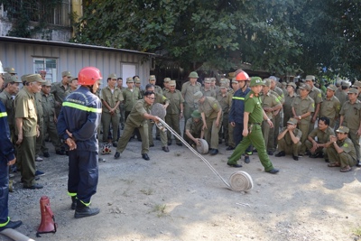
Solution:
{"label": "olive trousers of the man lunging with the hose end", "polygon": [[123,153],[126,145],[129,142],[130,137],[133,135],[134,130],[138,129],[142,137],[142,154],[149,153],[149,139],[148,139],[148,124],[144,125],[134,125],[130,121],[125,121],[125,128],[123,130],[122,136],[118,141],[118,146],[116,147],[116,152]]}

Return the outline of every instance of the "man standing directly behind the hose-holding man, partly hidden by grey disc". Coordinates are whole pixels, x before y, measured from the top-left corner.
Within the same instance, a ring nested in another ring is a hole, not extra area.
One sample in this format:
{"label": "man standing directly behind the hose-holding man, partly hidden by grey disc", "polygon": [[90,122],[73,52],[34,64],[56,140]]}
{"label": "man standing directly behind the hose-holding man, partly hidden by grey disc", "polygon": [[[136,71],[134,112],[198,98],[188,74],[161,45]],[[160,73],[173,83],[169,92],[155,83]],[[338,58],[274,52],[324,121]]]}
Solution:
{"label": "man standing directly behind the hose-holding man, partly hidden by grey disc", "polygon": [[[162,94],[159,94],[154,91],[154,86],[152,84],[148,84],[145,87],[145,91],[150,91],[155,93],[155,103],[160,103],[163,105],[163,108],[166,109],[170,105],[170,101],[167,97],[164,97]],[[154,122],[148,120],[148,137],[149,137],[149,146],[154,146],[154,140],[153,140],[153,126]],[[158,128],[157,128],[158,129]],[[169,152],[168,148],[168,140],[167,140],[167,134],[165,132],[160,132],[161,142],[162,142],[162,150],[166,153]]]}

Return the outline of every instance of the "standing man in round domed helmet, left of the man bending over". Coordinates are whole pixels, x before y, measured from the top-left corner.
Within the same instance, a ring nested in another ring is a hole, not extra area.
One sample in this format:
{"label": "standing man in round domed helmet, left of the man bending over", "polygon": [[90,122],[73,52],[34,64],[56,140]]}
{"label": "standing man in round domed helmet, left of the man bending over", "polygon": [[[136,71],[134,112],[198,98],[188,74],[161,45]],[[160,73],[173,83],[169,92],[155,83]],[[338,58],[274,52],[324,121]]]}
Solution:
{"label": "standing man in round domed helmet, left of the man bending over", "polygon": [[190,114],[198,108],[197,103],[194,102],[194,93],[199,91],[201,87],[200,83],[197,81],[199,76],[196,71],[190,72],[190,76],[188,78],[190,81],[185,82],[181,86],[180,91],[184,98],[184,120],[188,120],[190,118]]}

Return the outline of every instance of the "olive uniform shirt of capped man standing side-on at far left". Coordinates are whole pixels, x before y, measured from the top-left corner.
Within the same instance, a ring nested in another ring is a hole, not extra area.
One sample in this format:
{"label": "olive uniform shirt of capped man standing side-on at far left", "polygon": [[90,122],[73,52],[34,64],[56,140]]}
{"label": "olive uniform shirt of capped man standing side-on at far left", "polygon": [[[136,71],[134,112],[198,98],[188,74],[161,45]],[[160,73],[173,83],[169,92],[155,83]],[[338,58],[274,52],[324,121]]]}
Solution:
{"label": "olive uniform shirt of capped man standing side-on at far left", "polygon": [[[35,97],[25,87],[15,97],[15,118],[23,118],[23,136],[36,135],[38,117],[35,109]],[[18,134],[17,130],[16,134]]]}

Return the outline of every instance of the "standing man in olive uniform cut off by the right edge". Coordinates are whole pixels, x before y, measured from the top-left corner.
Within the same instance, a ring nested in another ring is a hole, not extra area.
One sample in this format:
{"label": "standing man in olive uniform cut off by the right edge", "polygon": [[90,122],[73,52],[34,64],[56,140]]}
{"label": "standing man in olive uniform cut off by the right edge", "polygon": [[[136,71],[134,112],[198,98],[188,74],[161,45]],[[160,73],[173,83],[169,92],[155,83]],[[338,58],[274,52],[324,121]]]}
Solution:
{"label": "standing man in olive uniform cut off by the right edge", "polygon": [[348,90],[348,100],[339,112],[339,125],[349,128],[348,136],[355,146],[357,166],[360,167],[361,102],[357,99],[357,95],[356,88]]}

